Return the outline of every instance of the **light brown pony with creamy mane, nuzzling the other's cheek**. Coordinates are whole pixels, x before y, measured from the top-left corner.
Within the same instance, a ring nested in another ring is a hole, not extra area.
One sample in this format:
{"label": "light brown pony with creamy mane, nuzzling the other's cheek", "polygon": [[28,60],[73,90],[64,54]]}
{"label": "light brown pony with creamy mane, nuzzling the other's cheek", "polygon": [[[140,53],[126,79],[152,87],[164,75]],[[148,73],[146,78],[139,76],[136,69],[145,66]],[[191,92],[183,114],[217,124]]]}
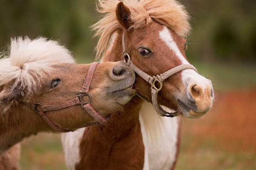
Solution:
{"label": "light brown pony with creamy mane, nuzzling the other's cheek", "polygon": [[[12,155],[19,147],[10,147],[23,138],[56,132],[30,104],[60,106],[75,98],[89,67],[90,64],[74,64],[70,52],[58,42],[46,38],[12,39],[8,56],[0,59],[0,167],[18,159],[18,151],[17,159]],[[125,62],[100,63],[88,91],[92,108],[102,118],[113,111],[123,111],[122,105],[136,94],[129,88],[134,81],[134,71]],[[82,100],[86,101],[85,97]],[[81,104],[46,113],[55,125],[72,131],[96,122]]]}

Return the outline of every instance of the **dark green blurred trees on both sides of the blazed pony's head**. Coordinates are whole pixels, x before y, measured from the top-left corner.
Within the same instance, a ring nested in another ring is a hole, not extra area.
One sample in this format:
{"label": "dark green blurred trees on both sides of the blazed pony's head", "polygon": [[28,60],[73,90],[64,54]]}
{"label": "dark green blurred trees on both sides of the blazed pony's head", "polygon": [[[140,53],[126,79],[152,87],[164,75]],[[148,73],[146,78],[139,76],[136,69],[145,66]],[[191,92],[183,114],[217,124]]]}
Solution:
{"label": "dark green blurred trees on both sides of the blazed pony's head", "polygon": [[[187,57],[256,62],[256,0],[181,0],[192,19]],[[60,40],[79,62],[93,61],[96,0],[0,0],[0,46],[10,37]]]}

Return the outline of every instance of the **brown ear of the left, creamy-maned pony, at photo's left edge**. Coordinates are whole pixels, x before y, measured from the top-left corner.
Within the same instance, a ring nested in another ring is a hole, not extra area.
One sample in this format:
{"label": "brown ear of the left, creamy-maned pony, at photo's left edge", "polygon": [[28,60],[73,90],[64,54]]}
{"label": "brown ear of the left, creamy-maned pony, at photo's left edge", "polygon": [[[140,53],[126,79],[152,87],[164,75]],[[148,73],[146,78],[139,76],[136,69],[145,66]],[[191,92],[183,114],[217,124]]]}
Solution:
{"label": "brown ear of the left, creamy-maned pony, at photo's left edge", "polygon": [[0,91],[0,113],[5,113],[14,103],[21,102],[23,96],[24,92],[20,89],[3,88]]}

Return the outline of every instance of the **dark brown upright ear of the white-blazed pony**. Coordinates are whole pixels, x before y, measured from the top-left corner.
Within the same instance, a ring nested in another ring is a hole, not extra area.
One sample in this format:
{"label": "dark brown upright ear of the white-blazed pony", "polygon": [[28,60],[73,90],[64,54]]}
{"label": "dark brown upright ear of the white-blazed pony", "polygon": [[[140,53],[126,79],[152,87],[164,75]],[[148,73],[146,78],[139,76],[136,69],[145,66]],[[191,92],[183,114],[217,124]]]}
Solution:
{"label": "dark brown upright ear of the white-blazed pony", "polygon": [[116,6],[116,18],[126,30],[132,25],[131,11],[123,2],[119,2]]}

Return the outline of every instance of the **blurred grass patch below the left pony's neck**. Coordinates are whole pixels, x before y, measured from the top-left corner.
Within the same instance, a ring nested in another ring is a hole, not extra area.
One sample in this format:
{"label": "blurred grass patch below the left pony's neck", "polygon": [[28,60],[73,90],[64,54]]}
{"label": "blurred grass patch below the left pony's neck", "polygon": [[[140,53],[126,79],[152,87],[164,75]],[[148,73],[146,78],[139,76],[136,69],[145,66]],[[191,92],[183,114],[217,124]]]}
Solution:
{"label": "blurred grass patch below the left pony's neck", "polygon": [[41,133],[22,142],[22,170],[66,170],[59,134]]}

